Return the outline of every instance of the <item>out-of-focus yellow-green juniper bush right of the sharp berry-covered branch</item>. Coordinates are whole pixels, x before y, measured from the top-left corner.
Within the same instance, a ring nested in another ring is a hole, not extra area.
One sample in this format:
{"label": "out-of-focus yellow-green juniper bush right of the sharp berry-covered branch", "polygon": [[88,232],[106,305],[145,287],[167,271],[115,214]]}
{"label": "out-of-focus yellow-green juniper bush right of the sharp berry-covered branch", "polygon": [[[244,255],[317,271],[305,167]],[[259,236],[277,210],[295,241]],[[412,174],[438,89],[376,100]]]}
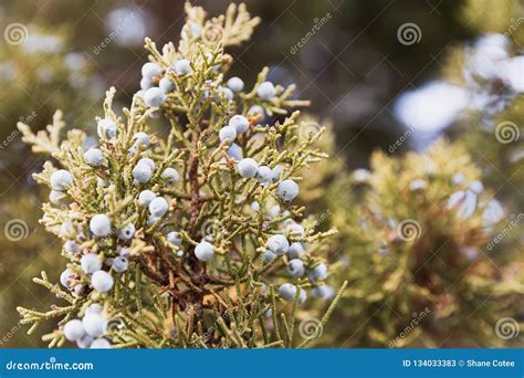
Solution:
{"label": "out-of-focus yellow-green juniper bush right of the sharp berry-covered branch", "polygon": [[[464,146],[440,140],[422,154],[376,153],[371,170],[353,175],[340,175],[340,162],[323,165],[325,175],[306,176],[304,188],[317,211],[329,209],[323,227],[338,229],[332,276],[347,280],[348,290],[319,345],[517,343],[500,337],[496,324],[518,322],[522,214],[484,188]],[[345,324],[354,327],[337,326]]]}

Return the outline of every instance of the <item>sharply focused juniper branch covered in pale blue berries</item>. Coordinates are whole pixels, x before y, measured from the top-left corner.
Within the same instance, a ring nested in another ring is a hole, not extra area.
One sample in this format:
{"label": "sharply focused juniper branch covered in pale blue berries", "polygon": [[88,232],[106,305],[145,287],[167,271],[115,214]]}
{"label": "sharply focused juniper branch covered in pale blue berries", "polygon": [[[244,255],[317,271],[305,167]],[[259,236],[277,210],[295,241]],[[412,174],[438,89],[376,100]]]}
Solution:
{"label": "sharply focused juniper branch covered in pale blue berries", "polygon": [[53,158],[34,178],[51,189],[41,222],[67,261],[60,285],[34,279],[65,305],[18,308],[29,333],[56,323],[50,347],[295,346],[298,308],[327,279],[335,231],[302,223],[300,172],[326,158],[314,147],[322,129],[298,133],[293,109],[307,102],[268,69],[249,88],[228,76],[224,49],[259,22],[244,6],[186,12],[178,46],[146,39],[130,107],[116,113],[106,93],[97,146],[78,129],[63,136],[61,112],[36,135],[19,124]]}

